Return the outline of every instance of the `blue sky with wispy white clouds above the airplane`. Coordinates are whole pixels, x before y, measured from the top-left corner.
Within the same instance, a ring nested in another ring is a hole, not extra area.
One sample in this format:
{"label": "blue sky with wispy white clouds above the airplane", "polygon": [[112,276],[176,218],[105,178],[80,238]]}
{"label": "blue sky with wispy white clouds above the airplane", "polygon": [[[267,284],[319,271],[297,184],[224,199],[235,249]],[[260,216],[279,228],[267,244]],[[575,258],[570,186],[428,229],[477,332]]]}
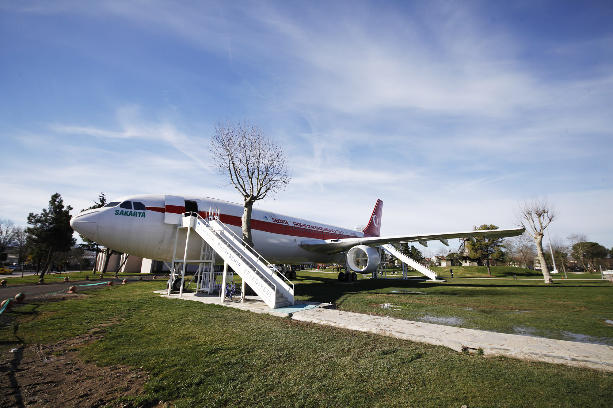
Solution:
{"label": "blue sky with wispy white clouds above the airplane", "polygon": [[[164,192],[238,202],[208,167],[216,121],[292,154],[261,206],[382,233],[512,227],[613,246],[613,4],[6,1],[0,218]],[[456,244],[457,245],[457,244]]]}

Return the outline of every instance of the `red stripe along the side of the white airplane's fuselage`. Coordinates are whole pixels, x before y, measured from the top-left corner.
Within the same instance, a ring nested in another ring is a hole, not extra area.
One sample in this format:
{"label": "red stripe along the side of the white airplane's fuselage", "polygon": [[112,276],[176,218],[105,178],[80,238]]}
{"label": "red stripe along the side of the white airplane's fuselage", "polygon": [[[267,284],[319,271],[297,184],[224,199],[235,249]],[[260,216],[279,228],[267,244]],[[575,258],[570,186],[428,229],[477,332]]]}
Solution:
{"label": "red stripe along the side of the white airplane's fuselage", "polygon": [[[157,211],[158,213],[185,213],[185,207],[180,205],[167,205],[164,207],[147,207],[147,210]],[[205,211],[199,212],[201,217],[206,218],[208,213]],[[241,217],[232,216],[229,214],[219,214],[219,219],[224,224],[242,226]],[[338,238],[359,238],[357,235],[333,234],[325,231],[315,231],[307,228],[291,227],[289,225],[276,224],[275,222],[260,221],[251,219],[251,228],[258,231],[270,232],[273,234],[299,236],[300,238],[313,238],[315,240],[334,240]]]}

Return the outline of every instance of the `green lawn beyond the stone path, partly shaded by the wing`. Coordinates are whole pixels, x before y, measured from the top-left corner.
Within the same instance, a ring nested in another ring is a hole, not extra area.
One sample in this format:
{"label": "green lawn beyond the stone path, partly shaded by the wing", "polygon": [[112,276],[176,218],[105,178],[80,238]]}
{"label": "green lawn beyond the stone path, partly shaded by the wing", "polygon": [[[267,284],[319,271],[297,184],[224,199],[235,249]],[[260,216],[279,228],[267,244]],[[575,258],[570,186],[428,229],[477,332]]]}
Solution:
{"label": "green lawn beyond the stone path, partly shaded by the wing", "polygon": [[[298,278],[297,299],[337,303],[346,311],[613,345],[613,327],[604,322],[613,320],[611,282],[362,278],[347,285],[314,271],[300,271]],[[381,308],[386,303],[394,307]]]}

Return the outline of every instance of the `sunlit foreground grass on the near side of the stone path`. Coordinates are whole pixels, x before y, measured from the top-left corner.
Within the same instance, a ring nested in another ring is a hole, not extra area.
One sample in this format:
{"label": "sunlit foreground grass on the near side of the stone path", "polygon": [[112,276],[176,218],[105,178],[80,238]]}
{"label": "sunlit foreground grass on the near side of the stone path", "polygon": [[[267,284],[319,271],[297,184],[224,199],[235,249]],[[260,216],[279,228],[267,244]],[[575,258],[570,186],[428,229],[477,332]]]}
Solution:
{"label": "sunlit foreground grass on the near side of the stone path", "polygon": [[[327,298],[336,298],[326,300],[336,300],[343,308],[353,304],[350,293],[365,289],[358,289],[360,285],[383,282],[333,285],[302,273],[301,279],[319,282],[297,285],[297,291],[313,292],[303,297],[324,290]],[[14,312],[14,324],[0,329],[2,347],[54,342],[101,328],[105,338],[83,347],[80,356],[97,365],[142,366],[150,372],[150,381],[139,401],[172,401],[177,407],[612,405],[612,373],[469,356],[376,334],[169,300],[151,292],[162,287],[164,282],[145,281],[92,291],[78,300],[26,304]],[[332,287],[340,294],[333,295]],[[443,287],[447,292],[471,290],[468,285]],[[592,289],[597,287],[583,287],[585,292]],[[476,285],[474,290],[481,301],[495,297],[492,289],[484,292]],[[395,296],[383,287],[362,293],[373,295],[388,301],[430,296]],[[103,323],[114,324],[100,327]]]}

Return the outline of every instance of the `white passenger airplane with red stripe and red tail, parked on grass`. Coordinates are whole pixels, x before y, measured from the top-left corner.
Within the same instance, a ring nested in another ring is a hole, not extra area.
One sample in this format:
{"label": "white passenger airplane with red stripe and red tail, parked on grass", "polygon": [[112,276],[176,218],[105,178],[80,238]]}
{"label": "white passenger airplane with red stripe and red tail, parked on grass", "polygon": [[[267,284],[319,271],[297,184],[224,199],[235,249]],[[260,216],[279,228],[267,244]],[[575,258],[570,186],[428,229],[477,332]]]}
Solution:
{"label": "white passenger airplane with red stripe and red tail, parked on grass", "polygon": [[[102,208],[83,211],[70,219],[76,232],[102,246],[125,254],[147,259],[172,262],[175,237],[185,244],[185,230],[175,228],[181,224],[182,214],[197,213],[206,218],[218,214],[238,236],[242,236],[243,205],[209,197],[192,195],[143,194],[116,198]],[[451,238],[476,236],[503,238],[517,236],[525,229],[480,230],[414,235],[380,236],[383,201],[375,208],[362,231],[297,216],[274,213],[254,208],[251,213],[253,248],[271,264],[341,263],[345,274],[339,279],[357,280],[357,272],[373,273],[380,263],[375,247],[400,243],[438,240],[449,245]],[[392,248],[393,250],[393,248]],[[201,242],[189,241],[187,259],[199,259]],[[223,263],[221,257],[217,263]],[[349,272],[351,270],[352,272]],[[342,273],[341,273],[342,274]]]}

